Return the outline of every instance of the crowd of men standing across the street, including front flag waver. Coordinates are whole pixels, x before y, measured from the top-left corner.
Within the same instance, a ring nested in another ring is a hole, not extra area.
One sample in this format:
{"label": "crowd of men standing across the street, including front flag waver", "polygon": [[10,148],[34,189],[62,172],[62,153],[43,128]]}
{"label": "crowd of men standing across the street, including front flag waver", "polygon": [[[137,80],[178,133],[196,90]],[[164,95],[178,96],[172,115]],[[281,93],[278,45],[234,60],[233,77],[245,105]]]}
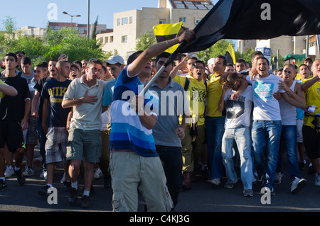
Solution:
{"label": "crowd of men standing across the street, including front flag waver", "polygon": [[82,208],[90,208],[95,168],[105,188],[112,187],[114,211],[137,211],[138,191],[148,211],[172,211],[198,174],[213,186],[226,176],[229,189],[240,177],[245,197],[253,196],[253,183],[274,196],[284,152],[292,193],[306,185],[299,174],[306,157],[320,186],[320,60],[306,58],[299,68],[285,64],[274,72],[259,51],[251,62],[178,55],[166,64],[171,55],[164,51],[193,35],[186,30],[135,52],[127,64],[119,55],[103,62],[68,62],[60,55],[32,70],[24,52],[6,54],[0,65],[0,191],[6,177],[16,174],[23,185],[34,174],[38,142],[47,180],[38,194],[48,195],[55,164],[63,162],[70,204],[77,203],[83,181]]}

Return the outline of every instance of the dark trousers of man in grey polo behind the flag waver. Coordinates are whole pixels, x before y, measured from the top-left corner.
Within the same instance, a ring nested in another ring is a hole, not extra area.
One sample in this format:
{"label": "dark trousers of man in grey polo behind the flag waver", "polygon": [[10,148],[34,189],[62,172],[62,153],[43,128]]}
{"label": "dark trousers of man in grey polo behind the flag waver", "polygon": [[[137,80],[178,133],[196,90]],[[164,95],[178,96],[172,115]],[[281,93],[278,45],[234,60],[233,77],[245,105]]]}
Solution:
{"label": "dark trousers of man in grey polo behind the flag waver", "polygon": [[156,152],[164,164],[164,174],[174,207],[178,203],[178,195],[182,186],[182,154],[181,147],[156,145]]}

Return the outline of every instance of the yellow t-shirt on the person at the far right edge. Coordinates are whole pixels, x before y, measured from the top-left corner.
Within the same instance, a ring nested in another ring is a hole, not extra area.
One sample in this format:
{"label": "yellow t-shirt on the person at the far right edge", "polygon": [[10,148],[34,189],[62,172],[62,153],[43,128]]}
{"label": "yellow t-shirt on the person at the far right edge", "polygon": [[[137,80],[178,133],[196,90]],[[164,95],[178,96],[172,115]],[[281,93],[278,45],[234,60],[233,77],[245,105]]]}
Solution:
{"label": "yellow t-shirt on the person at the far right edge", "polygon": [[[310,79],[304,79],[303,83]],[[316,105],[318,109],[314,113],[309,113],[311,116],[304,116],[304,125],[314,128],[314,124],[311,122],[315,119],[314,115],[320,113],[320,82],[317,81],[307,91],[304,92],[306,95],[306,105]]]}

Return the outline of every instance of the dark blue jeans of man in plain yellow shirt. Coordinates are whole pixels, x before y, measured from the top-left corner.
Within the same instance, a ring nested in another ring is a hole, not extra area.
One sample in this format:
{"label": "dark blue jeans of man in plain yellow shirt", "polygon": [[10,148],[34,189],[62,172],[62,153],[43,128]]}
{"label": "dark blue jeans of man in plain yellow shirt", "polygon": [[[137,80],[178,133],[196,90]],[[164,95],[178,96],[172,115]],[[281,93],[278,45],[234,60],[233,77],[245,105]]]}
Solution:
{"label": "dark blue jeans of man in plain yellow shirt", "polygon": [[208,167],[212,179],[220,179],[223,176],[223,161],[221,145],[225,130],[225,117],[206,117],[206,136],[208,150]]}

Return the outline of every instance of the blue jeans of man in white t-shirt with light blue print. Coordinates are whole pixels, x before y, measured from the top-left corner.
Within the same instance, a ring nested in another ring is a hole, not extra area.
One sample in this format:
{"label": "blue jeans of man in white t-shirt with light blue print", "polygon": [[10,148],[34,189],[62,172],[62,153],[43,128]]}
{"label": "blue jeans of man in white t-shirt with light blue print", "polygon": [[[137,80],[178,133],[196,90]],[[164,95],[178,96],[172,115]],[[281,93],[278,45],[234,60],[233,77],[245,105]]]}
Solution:
{"label": "blue jeans of man in white t-shirt with light blue print", "polygon": [[[254,120],[252,125],[253,157],[257,174],[265,175],[268,188],[274,188],[274,176],[277,168],[278,150],[281,136],[281,120]],[[265,148],[266,146],[266,148]],[[267,164],[265,166],[264,150]]]}

